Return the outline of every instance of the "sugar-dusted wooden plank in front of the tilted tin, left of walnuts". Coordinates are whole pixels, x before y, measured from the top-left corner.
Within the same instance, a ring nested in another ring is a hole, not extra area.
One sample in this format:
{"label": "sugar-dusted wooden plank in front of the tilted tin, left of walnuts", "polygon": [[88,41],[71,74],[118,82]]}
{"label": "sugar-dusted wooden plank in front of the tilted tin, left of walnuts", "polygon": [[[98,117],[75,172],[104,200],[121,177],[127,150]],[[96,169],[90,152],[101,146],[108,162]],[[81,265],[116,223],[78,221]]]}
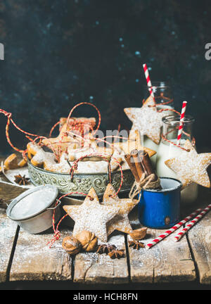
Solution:
{"label": "sugar-dusted wooden plank in front of the tilted tin, left of walnuts", "polygon": [[10,281],[71,280],[72,258],[62,246],[63,237],[51,249],[46,244],[52,234],[31,235],[20,231],[11,267]]}

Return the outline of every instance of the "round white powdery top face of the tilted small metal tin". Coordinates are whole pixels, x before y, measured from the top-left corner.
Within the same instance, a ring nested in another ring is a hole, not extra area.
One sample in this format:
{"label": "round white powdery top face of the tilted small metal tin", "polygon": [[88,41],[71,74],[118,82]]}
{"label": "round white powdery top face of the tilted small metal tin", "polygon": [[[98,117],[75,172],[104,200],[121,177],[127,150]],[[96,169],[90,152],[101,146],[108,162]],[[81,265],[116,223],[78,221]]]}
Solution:
{"label": "round white powdery top face of the tilted small metal tin", "polygon": [[11,220],[22,221],[43,213],[58,196],[56,186],[37,186],[15,198],[6,210]]}

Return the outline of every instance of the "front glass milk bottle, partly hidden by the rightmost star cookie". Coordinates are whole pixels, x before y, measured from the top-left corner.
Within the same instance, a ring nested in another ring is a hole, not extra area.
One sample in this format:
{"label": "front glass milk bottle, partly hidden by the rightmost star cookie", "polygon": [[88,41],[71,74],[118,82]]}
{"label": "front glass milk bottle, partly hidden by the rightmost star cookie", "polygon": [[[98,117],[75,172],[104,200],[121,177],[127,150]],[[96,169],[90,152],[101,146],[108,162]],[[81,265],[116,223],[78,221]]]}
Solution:
{"label": "front glass milk bottle, partly hidden by the rightmost star cookie", "polygon": [[[177,157],[179,156],[179,153],[181,153],[181,148],[174,146],[174,144],[177,144],[179,120],[179,115],[169,115],[165,118],[162,118],[162,137],[171,141],[171,143],[162,138],[160,145],[158,146],[156,171],[159,177],[173,177],[175,179],[178,179],[177,174],[169,167],[167,167],[167,165],[165,165],[165,160]],[[193,122],[194,119],[191,116],[186,115],[184,120],[184,129],[180,141],[181,147],[184,146],[186,139],[192,140],[191,134]],[[181,191],[182,203],[192,203],[196,200],[197,197],[198,185],[195,183],[190,184]]]}

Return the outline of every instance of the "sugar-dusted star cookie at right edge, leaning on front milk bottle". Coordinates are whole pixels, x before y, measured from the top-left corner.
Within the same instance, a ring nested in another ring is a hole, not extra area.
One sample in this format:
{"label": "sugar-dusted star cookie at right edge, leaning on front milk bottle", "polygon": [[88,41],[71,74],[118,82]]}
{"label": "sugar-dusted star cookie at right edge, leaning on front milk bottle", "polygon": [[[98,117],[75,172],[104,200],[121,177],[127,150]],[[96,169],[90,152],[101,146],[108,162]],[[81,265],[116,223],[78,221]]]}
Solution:
{"label": "sugar-dusted star cookie at right edge, leaning on front milk bottle", "polygon": [[165,161],[165,165],[177,173],[177,178],[183,186],[192,182],[210,188],[210,179],[207,174],[207,167],[211,164],[211,153],[198,154],[191,142],[187,139],[184,148],[179,156]]}

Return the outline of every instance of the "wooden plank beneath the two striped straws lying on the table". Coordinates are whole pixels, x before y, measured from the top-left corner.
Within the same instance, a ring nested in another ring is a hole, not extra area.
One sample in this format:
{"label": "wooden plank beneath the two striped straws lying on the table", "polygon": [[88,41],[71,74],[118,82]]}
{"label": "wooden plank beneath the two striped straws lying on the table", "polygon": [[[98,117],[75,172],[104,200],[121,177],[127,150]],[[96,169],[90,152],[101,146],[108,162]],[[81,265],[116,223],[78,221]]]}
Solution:
{"label": "wooden plank beneath the two striped straws lying on the table", "polygon": [[[162,233],[163,230],[148,229],[149,235],[143,242],[149,243]],[[136,251],[129,248],[132,282],[163,283],[196,279],[188,242],[184,238],[181,242],[175,243],[174,235],[172,234],[149,250],[141,248]],[[130,240],[130,237],[128,239]]]}

